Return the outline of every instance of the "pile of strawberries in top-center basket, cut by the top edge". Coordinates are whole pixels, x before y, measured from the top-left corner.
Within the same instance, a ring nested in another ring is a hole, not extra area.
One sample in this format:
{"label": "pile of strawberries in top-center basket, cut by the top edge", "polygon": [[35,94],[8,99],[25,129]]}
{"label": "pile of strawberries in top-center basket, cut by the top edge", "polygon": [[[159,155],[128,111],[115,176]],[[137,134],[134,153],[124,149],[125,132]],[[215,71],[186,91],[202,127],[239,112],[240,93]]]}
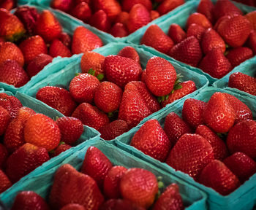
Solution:
{"label": "pile of strawberries in top-center basket, cut by the top edge", "polygon": [[101,31],[123,37],[147,25],[184,0],[52,0],[50,6],[69,12]]}

